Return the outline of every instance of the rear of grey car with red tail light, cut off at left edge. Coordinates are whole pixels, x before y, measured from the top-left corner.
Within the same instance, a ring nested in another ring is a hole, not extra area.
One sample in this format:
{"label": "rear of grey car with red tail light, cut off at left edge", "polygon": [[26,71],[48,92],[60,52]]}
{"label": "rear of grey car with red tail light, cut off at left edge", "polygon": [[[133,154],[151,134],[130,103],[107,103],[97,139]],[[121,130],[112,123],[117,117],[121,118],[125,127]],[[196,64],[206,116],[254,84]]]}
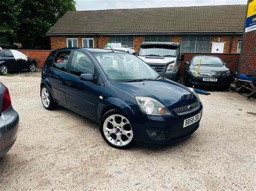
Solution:
{"label": "rear of grey car with red tail light, cut off at left edge", "polygon": [[0,82],[0,157],[14,145],[18,126],[19,116],[12,108],[9,90]]}

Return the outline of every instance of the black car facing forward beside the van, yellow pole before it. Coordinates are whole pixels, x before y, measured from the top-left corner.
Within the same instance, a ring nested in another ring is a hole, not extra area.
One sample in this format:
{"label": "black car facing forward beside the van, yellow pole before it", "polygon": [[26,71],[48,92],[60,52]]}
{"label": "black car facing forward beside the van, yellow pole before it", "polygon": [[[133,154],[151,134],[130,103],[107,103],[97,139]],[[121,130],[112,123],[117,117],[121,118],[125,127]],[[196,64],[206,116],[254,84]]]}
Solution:
{"label": "black car facing forward beside the van, yellow pole before it", "polygon": [[192,86],[195,81],[199,62],[201,65],[195,84],[198,86],[215,86],[225,89],[230,87],[231,74],[230,69],[217,56],[194,56],[191,62],[185,62],[185,85]]}

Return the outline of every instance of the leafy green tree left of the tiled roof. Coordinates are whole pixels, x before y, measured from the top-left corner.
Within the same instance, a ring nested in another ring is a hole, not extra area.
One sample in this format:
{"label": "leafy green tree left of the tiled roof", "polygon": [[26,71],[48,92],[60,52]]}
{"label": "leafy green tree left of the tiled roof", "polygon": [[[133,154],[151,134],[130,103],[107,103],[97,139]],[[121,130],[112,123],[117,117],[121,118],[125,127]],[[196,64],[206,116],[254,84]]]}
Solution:
{"label": "leafy green tree left of the tiled roof", "polygon": [[4,34],[2,41],[9,40],[12,44],[16,40],[26,48],[33,48],[35,38],[44,37],[66,11],[76,10],[76,2],[75,0],[2,0],[0,7],[0,33]]}

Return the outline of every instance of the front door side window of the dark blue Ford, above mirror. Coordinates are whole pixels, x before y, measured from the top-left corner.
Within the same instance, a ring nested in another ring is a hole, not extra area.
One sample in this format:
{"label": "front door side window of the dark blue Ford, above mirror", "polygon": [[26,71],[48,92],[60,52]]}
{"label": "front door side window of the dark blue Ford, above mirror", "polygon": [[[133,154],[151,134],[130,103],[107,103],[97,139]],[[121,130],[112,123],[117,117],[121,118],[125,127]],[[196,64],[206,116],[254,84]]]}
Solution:
{"label": "front door side window of the dark blue Ford, above mirror", "polygon": [[95,66],[87,55],[74,51],[70,73],[77,76],[83,73],[95,75]]}

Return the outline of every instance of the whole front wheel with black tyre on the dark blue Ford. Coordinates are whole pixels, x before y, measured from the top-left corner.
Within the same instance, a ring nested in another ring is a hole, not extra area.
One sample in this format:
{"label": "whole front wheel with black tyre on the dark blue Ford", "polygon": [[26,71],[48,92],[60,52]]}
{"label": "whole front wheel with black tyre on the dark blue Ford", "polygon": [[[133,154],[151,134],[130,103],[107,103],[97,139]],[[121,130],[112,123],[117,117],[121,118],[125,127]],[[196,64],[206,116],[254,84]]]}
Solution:
{"label": "whole front wheel with black tyre on the dark blue Ford", "polygon": [[117,109],[111,109],[102,116],[99,128],[105,142],[114,148],[124,149],[134,144],[131,124]]}

